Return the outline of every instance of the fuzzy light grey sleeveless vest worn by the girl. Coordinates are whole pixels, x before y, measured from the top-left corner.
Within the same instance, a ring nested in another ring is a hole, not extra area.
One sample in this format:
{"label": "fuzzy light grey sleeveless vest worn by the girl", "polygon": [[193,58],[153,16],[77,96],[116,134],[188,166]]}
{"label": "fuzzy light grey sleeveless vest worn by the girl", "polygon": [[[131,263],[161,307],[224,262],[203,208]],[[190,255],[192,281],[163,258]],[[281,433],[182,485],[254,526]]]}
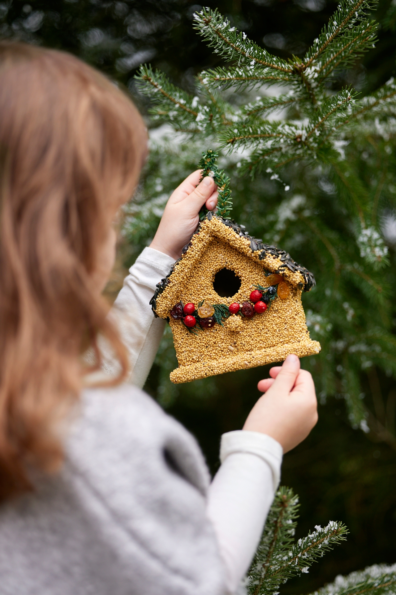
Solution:
{"label": "fuzzy light grey sleeveless vest worn by the girl", "polygon": [[80,408],[60,475],[0,508],[0,594],[224,593],[194,438],[133,386]]}

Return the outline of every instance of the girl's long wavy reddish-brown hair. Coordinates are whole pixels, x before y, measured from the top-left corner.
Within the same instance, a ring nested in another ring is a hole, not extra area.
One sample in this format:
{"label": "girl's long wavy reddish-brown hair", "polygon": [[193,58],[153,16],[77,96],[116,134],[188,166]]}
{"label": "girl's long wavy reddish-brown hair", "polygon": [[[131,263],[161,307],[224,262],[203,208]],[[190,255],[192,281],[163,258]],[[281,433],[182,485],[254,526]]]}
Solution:
{"label": "girl's long wavy reddish-brown hair", "polygon": [[0,499],[62,461],[56,427],[98,333],[120,361],[115,382],[125,377],[125,347],[90,280],[146,146],[137,109],[93,68],[0,42]]}

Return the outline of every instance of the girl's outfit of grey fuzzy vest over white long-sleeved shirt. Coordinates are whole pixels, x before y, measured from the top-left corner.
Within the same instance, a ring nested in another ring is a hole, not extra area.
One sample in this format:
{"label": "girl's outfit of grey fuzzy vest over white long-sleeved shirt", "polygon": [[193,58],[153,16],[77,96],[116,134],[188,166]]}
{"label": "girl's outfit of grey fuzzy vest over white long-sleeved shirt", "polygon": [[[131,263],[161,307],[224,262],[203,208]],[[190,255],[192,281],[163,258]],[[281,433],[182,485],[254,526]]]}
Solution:
{"label": "girl's outfit of grey fuzzy vest over white long-sleeved shirt", "polygon": [[0,507],[0,595],[241,592],[282,449],[228,432],[210,483],[196,440],[139,388],[164,328],[148,302],[171,264],[146,248],[116,300],[130,383],[84,390],[61,470]]}

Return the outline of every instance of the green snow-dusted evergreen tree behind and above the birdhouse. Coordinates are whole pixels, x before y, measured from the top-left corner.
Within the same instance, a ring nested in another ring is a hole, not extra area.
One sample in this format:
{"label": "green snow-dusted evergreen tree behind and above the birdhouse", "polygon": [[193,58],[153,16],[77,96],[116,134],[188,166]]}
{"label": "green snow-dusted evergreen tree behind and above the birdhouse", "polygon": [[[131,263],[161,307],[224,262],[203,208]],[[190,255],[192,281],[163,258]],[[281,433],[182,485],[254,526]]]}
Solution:
{"label": "green snow-dusted evergreen tree behind and above the birdhouse", "polygon": [[[191,95],[164,73],[141,68],[153,122],[179,136],[177,143],[169,134],[152,143],[146,187],[131,207],[137,218],[125,232],[150,233],[176,170],[179,179],[196,167],[200,152],[215,148],[231,176],[232,217],[316,276],[304,300],[322,354],[304,367],[313,372],[320,399],[344,398],[354,427],[396,448],[394,407],[391,399],[384,402],[378,381],[378,371],[396,375],[389,266],[396,242],[396,83],[363,98],[352,88],[337,89],[375,45],[374,7],[370,0],[342,1],[304,58],[290,60],[251,42],[216,10],[196,14],[195,28],[225,65],[200,73]],[[391,11],[387,18],[391,23]],[[155,179],[154,166],[162,172]],[[158,361],[170,368],[173,357],[163,350]],[[169,389],[165,368],[166,401],[178,389]],[[373,407],[364,400],[367,385]]]}

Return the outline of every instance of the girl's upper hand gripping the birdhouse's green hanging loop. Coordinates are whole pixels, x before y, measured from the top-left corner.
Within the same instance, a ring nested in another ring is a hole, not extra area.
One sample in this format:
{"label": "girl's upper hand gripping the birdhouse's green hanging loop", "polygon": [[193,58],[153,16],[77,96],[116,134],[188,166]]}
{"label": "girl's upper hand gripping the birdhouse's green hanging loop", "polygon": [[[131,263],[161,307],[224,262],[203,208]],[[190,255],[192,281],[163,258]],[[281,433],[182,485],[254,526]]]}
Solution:
{"label": "girl's upper hand gripping the birdhouse's green hanging loop", "polygon": [[217,205],[213,179],[207,176],[197,186],[200,177],[201,170],[194,171],[171,194],[150,248],[164,252],[175,260],[180,258],[181,250],[196,230],[202,206],[213,211]]}

